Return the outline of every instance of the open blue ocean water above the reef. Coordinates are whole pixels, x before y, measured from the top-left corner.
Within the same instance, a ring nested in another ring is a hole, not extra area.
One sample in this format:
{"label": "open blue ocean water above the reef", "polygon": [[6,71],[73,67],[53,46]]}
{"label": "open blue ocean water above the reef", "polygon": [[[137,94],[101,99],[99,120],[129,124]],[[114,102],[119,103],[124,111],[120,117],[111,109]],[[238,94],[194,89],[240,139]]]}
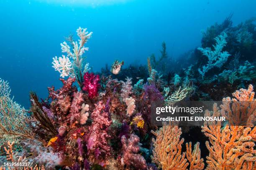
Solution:
{"label": "open blue ocean water above the reef", "polygon": [[52,57],[79,26],[94,32],[86,56],[97,71],[115,59],[145,64],[163,41],[179,57],[200,46],[200,30],[231,13],[236,25],[256,16],[255,7],[255,0],[1,0],[0,77],[28,108],[29,91],[44,98],[46,87],[61,85]]}

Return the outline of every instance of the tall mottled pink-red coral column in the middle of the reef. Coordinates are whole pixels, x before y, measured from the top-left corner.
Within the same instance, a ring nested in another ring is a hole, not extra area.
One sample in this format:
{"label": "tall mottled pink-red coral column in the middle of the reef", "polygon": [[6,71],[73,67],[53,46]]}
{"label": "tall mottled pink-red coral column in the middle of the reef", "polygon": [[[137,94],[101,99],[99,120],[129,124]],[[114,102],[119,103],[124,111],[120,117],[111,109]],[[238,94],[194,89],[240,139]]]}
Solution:
{"label": "tall mottled pink-red coral column in the middle of the reef", "polygon": [[110,155],[110,146],[108,145],[108,127],[111,125],[112,120],[109,118],[108,112],[104,111],[105,105],[102,101],[95,104],[95,109],[92,112],[92,125],[89,128],[89,135],[87,140],[87,149],[91,150],[95,156],[98,155]]}

